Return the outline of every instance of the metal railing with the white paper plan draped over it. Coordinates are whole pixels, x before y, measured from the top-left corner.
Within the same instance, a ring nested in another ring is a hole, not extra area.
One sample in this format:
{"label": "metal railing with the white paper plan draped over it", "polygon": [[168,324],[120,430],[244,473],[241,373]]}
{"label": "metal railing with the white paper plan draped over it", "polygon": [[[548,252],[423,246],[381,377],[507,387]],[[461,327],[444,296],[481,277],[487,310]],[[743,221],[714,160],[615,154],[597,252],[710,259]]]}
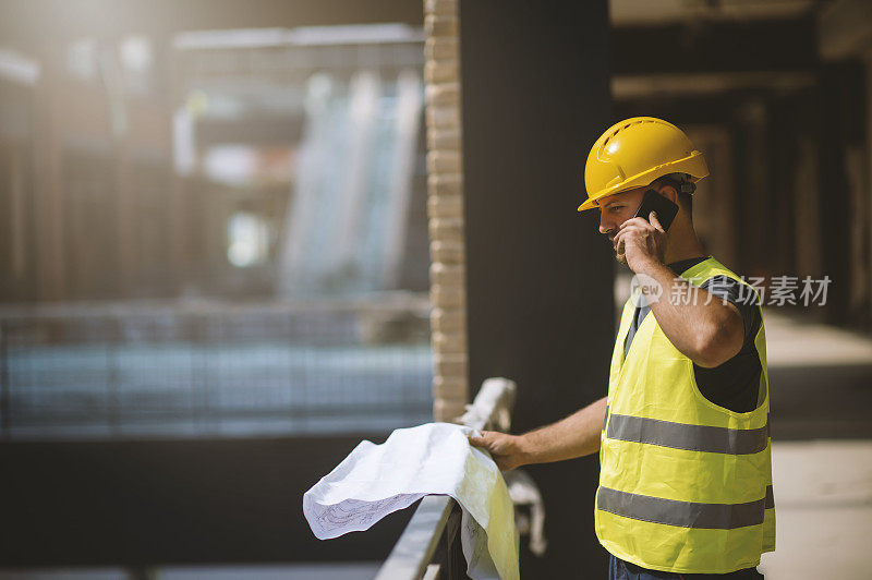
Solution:
{"label": "metal railing with the white paper plan draped over it", "polygon": [[[507,431],[517,387],[506,378],[488,378],[460,422],[477,430]],[[447,495],[428,495],[376,576],[376,580],[465,579],[460,545],[458,503]]]}

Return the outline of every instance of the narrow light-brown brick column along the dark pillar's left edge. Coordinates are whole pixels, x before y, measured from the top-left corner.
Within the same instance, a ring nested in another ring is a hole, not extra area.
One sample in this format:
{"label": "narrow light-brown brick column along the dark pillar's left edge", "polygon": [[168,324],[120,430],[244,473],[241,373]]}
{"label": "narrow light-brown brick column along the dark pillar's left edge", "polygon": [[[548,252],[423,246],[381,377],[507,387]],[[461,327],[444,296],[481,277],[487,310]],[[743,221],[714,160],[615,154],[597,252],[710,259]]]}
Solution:
{"label": "narrow light-brown brick column along the dark pillar's left edge", "polygon": [[424,27],[433,416],[452,421],[469,399],[458,1],[424,0]]}

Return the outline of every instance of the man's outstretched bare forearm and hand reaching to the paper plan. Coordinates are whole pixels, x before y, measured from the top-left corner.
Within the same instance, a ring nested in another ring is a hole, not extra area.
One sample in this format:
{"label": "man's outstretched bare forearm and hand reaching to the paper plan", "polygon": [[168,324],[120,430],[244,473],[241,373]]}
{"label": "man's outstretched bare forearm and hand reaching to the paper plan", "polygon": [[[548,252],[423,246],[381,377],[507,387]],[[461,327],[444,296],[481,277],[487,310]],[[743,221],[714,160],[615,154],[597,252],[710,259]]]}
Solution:
{"label": "man's outstretched bare forearm and hand reaching to the paper plan", "polygon": [[606,415],[606,398],[592,402],[548,426],[523,435],[496,431],[470,437],[470,443],[491,452],[502,471],[529,463],[573,459],[600,450],[600,432]]}

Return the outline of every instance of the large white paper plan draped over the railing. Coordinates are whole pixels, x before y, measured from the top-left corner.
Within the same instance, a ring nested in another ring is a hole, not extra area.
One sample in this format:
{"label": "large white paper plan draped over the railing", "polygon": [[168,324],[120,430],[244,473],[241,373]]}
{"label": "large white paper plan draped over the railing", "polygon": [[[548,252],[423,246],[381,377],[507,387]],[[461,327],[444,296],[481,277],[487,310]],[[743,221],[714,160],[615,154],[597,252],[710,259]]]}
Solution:
{"label": "large white paper plan draped over the railing", "polygon": [[367,530],[425,495],[450,495],[463,508],[461,543],[473,580],[517,580],[514,508],[489,455],[471,446],[470,427],[427,423],[398,428],[382,445],[361,442],[303,495],[319,540]]}

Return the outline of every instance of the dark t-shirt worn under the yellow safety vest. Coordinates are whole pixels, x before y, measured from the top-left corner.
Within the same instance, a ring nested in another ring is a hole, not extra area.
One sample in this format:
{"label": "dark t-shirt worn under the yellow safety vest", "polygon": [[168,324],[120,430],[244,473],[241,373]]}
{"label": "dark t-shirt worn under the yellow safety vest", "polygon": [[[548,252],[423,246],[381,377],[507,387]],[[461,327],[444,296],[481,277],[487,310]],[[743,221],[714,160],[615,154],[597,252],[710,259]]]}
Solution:
{"label": "dark t-shirt worn under the yellow safety vest", "polygon": [[[707,257],[695,257],[667,264],[667,266],[676,276],[680,276],[681,273],[705,259]],[[748,292],[742,292],[740,282],[727,276],[715,276],[700,285],[700,288],[731,302],[739,309],[744,323],[744,341],[738,354],[718,366],[704,368],[694,364],[693,374],[697,386],[700,388],[700,392],[715,404],[738,413],[753,411],[758,407],[760,373],[762,372],[760,357],[754,347],[754,338],[760,330],[760,325],[763,324],[760,307],[746,299]],[[639,325],[650,312],[649,305],[635,307],[627,341],[623,343],[625,357],[630,350],[630,343]]]}

